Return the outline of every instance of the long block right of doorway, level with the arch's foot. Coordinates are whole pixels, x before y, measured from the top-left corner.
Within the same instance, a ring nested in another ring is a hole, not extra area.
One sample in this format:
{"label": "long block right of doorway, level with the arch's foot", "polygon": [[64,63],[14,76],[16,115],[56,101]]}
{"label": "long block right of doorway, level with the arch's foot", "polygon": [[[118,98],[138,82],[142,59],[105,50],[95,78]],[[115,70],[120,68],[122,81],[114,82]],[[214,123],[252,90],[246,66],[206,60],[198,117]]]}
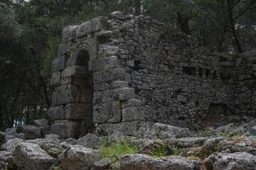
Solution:
{"label": "long block right of doorway, level with the arch's foot", "polygon": [[93,75],[94,83],[123,81],[125,80],[125,69],[114,68],[104,71],[96,71]]}

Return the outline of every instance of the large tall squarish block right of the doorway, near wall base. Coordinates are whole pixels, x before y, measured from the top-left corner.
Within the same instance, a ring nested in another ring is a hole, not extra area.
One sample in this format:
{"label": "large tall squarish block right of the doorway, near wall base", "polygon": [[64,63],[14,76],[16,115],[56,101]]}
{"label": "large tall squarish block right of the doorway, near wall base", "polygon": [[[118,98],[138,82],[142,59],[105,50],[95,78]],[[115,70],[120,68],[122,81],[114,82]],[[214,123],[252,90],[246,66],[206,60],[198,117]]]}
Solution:
{"label": "large tall squarish block right of the doorway, near wall base", "polygon": [[121,122],[121,106],[119,101],[108,102],[96,106],[93,114],[93,122]]}

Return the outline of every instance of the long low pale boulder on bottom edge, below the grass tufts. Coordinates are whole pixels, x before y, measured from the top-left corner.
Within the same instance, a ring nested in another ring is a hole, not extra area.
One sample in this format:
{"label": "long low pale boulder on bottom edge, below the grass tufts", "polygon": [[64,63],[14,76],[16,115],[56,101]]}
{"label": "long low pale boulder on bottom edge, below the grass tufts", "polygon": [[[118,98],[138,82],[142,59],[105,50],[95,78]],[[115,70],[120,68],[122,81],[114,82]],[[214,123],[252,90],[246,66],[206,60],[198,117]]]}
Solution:
{"label": "long low pale boulder on bottom edge, below the grass tufts", "polygon": [[200,170],[195,161],[183,156],[154,158],[146,155],[127,155],[120,160],[122,170]]}

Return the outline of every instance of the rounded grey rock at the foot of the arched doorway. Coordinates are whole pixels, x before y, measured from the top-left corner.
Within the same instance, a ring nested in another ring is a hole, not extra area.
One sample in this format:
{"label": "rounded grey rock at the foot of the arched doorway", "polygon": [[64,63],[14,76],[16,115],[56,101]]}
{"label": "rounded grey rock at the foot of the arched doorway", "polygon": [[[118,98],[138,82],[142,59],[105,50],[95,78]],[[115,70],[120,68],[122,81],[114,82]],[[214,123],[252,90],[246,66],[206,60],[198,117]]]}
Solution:
{"label": "rounded grey rock at the foot of the arched doorway", "polygon": [[78,144],[86,148],[98,149],[105,142],[105,139],[103,139],[102,137],[98,137],[92,133],[88,133],[83,138],[79,139]]}

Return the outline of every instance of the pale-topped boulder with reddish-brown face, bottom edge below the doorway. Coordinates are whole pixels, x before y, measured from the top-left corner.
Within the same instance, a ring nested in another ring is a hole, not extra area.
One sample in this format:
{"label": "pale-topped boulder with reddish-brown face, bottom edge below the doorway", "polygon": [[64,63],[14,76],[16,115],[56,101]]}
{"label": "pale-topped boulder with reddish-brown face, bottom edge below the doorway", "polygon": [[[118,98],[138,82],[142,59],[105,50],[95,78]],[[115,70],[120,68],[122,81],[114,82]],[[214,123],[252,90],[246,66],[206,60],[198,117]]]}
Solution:
{"label": "pale-topped boulder with reddish-brown face, bottom edge below the doorway", "polygon": [[90,170],[93,163],[101,159],[97,150],[80,145],[70,145],[61,155],[61,168],[63,170]]}

